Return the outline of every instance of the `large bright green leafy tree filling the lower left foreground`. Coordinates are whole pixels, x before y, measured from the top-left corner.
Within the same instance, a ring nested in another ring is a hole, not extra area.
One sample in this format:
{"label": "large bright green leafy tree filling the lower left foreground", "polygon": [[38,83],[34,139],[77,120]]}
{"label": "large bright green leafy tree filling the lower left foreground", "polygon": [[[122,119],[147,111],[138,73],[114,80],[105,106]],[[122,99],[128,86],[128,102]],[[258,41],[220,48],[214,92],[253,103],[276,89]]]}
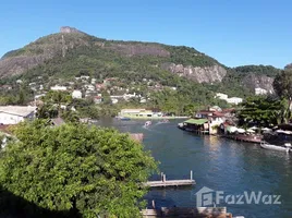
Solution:
{"label": "large bright green leafy tree filling the lower left foreground", "polygon": [[156,169],[143,147],[113,129],[47,120],[21,123],[17,142],[0,153],[0,183],[13,194],[50,210],[83,217],[137,217],[141,185]]}

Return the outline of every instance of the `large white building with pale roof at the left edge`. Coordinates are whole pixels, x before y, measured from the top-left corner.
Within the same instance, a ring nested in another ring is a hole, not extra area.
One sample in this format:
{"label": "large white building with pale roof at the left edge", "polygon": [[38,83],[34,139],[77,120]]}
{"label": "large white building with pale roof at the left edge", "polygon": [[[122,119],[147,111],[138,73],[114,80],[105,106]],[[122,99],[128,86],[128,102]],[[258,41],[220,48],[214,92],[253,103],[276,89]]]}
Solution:
{"label": "large white building with pale roof at the left edge", "polygon": [[25,119],[35,117],[36,107],[31,106],[2,106],[0,107],[0,123],[17,124]]}

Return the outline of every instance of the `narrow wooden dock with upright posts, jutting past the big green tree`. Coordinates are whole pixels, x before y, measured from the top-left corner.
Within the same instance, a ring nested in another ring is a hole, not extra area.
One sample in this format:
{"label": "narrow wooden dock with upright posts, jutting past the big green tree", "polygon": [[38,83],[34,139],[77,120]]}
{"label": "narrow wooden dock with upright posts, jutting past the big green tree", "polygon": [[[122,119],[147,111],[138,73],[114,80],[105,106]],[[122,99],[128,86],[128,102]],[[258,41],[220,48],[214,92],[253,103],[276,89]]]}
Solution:
{"label": "narrow wooden dock with upright posts, jutting past the big green tree", "polygon": [[167,175],[162,172],[161,180],[159,181],[148,181],[145,182],[145,186],[150,187],[167,187],[167,186],[190,186],[196,184],[195,180],[193,180],[193,171],[191,170],[190,180],[167,180]]}

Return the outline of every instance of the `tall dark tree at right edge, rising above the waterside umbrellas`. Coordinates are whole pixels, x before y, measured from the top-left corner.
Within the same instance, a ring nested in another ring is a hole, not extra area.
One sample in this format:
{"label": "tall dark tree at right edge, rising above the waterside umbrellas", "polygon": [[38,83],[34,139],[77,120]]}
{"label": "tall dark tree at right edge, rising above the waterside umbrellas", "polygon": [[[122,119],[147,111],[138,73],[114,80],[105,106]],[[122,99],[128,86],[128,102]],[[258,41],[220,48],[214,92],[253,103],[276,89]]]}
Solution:
{"label": "tall dark tree at right edge, rising above the waterside umbrellas", "polygon": [[292,71],[282,71],[281,73],[277,74],[273,81],[273,89],[277,93],[277,95],[288,100],[288,107],[287,107],[287,114],[288,120],[291,118],[291,106],[292,106]]}

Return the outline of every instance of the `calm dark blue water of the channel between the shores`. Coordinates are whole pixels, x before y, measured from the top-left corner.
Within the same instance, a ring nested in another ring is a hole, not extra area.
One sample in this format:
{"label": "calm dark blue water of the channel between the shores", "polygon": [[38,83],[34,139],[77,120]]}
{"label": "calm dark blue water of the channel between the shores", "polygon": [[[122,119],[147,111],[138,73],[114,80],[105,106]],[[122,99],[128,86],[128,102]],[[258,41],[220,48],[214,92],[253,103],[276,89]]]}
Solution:
{"label": "calm dark blue water of the channel between the shores", "polygon": [[[160,161],[167,179],[190,178],[196,185],[184,189],[153,190],[146,196],[156,206],[195,207],[195,193],[203,186],[227,194],[261,191],[281,195],[281,205],[224,205],[228,211],[245,218],[292,218],[292,155],[265,150],[258,145],[233,142],[215,136],[197,136],[177,128],[179,120],[143,128],[145,121],[104,120],[100,125],[121,132],[143,132],[145,149]],[[154,175],[153,179],[158,179]]]}

